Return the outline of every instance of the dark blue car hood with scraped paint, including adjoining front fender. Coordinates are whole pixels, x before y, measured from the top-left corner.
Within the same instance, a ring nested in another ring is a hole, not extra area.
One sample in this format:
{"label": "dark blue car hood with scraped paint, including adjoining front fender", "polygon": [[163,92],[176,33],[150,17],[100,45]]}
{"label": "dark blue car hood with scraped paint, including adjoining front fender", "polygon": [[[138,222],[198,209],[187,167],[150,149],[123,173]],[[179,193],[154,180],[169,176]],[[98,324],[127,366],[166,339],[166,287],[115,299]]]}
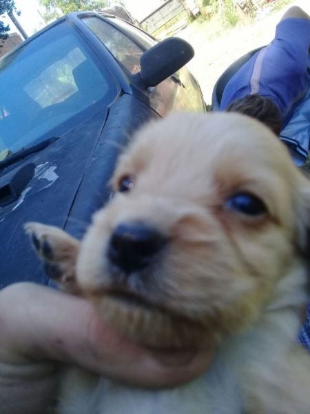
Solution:
{"label": "dark blue car hood with scraped paint, including adjoining front fender", "polygon": [[94,211],[112,197],[108,182],[121,148],[132,132],[155,117],[152,108],[124,94],[41,152],[3,170],[0,203],[8,177],[22,168],[33,177],[17,201],[0,206],[0,288],[20,281],[49,283],[25,224],[39,221],[81,238]]}

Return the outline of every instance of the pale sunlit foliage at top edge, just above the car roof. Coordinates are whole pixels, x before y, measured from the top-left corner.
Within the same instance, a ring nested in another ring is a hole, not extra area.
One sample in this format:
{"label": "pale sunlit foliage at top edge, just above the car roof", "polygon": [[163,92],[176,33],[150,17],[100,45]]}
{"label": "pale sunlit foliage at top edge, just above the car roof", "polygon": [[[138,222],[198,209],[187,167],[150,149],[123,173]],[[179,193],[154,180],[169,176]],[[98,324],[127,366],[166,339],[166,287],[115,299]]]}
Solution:
{"label": "pale sunlit foliage at top edge, just above the car roof", "polygon": [[[0,0],[1,1],[1,0]],[[95,10],[108,6],[108,0],[39,0],[47,10],[47,16],[59,16],[59,12],[67,14],[80,10]]]}

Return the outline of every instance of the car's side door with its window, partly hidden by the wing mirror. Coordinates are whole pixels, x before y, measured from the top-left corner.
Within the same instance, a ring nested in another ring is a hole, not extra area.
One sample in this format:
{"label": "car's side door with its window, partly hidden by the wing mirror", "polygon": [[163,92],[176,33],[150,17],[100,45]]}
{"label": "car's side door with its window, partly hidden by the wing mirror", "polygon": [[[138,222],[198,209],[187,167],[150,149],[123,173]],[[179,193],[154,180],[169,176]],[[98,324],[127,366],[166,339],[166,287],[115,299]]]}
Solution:
{"label": "car's side door with its window, partly hidden by the wing mirror", "polygon": [[[145,32],[121,19],[104,19],[92,14],[83,17],[83,23],[110,50],[129,76],[140,71],[143,52],[157,43]],[[186,68],[145,92],[149,106],[161,116],[172,110],[203,111],[205,108],[198,83]]]}

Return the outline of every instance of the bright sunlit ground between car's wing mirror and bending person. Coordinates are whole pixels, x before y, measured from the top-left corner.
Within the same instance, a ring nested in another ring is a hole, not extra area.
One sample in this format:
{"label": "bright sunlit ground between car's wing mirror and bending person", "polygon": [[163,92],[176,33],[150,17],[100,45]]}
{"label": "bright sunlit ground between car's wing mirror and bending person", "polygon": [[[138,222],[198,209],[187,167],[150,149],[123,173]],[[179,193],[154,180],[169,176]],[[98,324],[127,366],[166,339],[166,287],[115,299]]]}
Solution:
{"label": "bright sunlit ground between car's wing mirror and bending person", "polygon": [[189,41],[195,50],[195,57],[187,65],[198,79],[207,104],[211,103],[214,84],[222,72],[238,57],[249,50],[263,46],[274,35],[276,23],[290,6],[300,6],[310,14],[309,0],[292,0],[289,6],[270,12],[268,8],[258,15],[249,26],[239,26],[231,30],[222,30],[210,38],[210,23],[192,23],[176,34]]}

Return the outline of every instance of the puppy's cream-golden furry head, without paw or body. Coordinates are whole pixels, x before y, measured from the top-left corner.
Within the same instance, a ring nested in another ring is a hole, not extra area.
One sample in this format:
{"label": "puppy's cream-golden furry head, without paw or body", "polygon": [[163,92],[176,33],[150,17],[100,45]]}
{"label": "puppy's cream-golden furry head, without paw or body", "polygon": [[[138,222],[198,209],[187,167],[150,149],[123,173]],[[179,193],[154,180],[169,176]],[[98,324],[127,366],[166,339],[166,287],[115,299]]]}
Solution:
{"label": "puppy's cream-golden furry head, without paw or body", "polygon": [[260,316],[301,262],[307,180],[267,128],[236,114],[171,115],[121,156],[115,196],[81,244],[99,312],[150,346],[207,346]]}

